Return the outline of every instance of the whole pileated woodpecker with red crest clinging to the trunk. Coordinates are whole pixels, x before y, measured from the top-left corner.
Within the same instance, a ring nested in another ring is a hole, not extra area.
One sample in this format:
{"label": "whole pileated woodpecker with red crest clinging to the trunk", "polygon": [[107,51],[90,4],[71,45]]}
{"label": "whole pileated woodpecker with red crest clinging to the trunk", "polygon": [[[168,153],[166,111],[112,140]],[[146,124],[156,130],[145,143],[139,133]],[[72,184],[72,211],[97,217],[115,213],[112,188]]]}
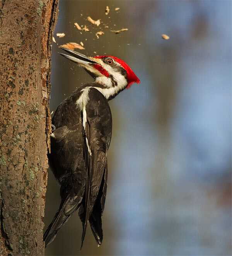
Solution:
{"label": "whole pileated woodpecker with red crest clinging to the trunk", "polygon": [[87,57],[63,48],[62,54],[83,67],[94,82],[80,86],[61,102],[52,118],[49,164],[60,183],[61,204],[44,233],[45,246],[79,209],[84,242],[87,223],[102,243],[102,220],[107,187],[107,151],[112,118],[108,100],[140,80],[130,66],[114,56]]}

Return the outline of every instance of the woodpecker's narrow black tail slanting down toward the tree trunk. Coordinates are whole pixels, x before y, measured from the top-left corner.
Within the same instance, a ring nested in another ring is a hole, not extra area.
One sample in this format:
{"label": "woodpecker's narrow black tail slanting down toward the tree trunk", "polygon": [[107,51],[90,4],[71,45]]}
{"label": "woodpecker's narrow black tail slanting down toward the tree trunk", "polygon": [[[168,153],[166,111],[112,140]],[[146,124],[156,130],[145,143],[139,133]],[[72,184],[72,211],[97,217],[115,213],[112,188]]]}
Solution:
{"label": "woodpecker's narrow black tail slanting down toward the tree trunk", "polygon": [[68,197],[61,203],[60,209],[56,212],[53,221],[44,233],[45,247],[55,239],[58,230],[68,221],[72,213],[79,208],[81,201],[82,197],[76,195],[72,198]]}

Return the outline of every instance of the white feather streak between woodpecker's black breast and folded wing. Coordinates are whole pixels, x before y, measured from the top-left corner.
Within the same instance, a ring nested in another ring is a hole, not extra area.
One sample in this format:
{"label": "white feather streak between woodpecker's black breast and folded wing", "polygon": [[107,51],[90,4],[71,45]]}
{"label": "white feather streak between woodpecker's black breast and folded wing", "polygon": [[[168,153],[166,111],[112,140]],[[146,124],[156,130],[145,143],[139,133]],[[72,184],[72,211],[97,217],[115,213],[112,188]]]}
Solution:
{"label": "white feather streak between woodpecker's black breast and folded wing", "polygon": [[[90,87],[86,87],[84,89],[81,90],[82,94],[80,95],[80,97],[77,99],[76,101],[76,105],[77,107],[80,109],[80,111],[82,111],[83,113],[83,122],[82,122],[82,126],[84,127],[85,130],[85,124],[87,122],[87,114],[86,114],[86,104],[89,101],[89,89]],[[86,140],[86,145],[89,151],[90,156],[92,156],[92,152],[88,143],[88,139],[85,137]]]}

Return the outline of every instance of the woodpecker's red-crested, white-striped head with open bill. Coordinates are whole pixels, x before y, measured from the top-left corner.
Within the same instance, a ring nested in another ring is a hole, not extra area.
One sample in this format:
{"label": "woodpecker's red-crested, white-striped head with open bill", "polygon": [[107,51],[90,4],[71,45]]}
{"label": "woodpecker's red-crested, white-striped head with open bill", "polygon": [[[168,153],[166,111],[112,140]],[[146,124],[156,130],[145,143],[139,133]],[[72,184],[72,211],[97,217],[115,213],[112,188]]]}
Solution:
{"label": "woodpecker's red-crested, white-striped head with open bill", "polygon": [[110,89],[110,97],[140,80],[126,62],[114,56],[87,57],[73,50],[61,47],[70,55],[62,54],[70,61],[83,67],[104,89]]}

